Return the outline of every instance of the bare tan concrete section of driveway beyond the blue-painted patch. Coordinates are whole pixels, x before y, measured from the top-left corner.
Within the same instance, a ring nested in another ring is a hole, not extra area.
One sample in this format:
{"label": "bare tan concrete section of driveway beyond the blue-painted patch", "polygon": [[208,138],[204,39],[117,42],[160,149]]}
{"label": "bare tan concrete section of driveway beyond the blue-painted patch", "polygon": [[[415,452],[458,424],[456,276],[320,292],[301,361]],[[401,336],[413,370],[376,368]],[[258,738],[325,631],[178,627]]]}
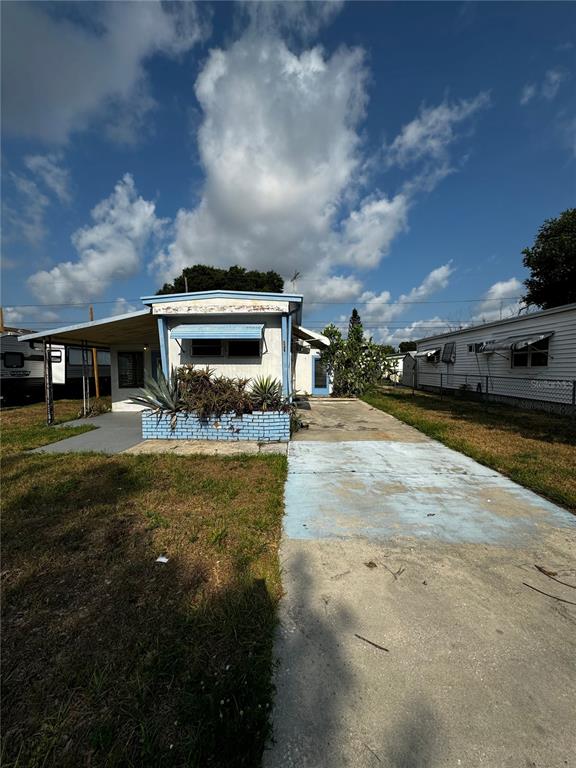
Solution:
{"label": "bare tan concrete section of driveway beyond the blue-painted patch", "polygon": [[293,436],[296,442],[342,440],[400,440],[418,443],[426,438],[420,432],[361,400],[310,399],[299,408],[308,425]]}

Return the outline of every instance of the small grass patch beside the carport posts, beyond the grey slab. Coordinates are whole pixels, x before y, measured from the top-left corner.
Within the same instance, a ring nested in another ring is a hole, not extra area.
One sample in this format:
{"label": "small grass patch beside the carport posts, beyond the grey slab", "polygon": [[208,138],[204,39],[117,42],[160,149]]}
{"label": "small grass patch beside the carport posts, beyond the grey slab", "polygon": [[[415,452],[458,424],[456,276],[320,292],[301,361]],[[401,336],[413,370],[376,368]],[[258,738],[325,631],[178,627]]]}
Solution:
{"label": "small grass patch beside the carport posts, beyond the grey slab", "polygon": [[[81,400],[57,400],[54,407],[55,423],[77,419],[81,408]],[[46,425],[46,406],[44,403],[34,403],[20,408],[2,408],[0,429],[2,454],[7,455],[56,443],[66,437],[89,432],[95,427],[89,420],[81,427],[49,427]]]}

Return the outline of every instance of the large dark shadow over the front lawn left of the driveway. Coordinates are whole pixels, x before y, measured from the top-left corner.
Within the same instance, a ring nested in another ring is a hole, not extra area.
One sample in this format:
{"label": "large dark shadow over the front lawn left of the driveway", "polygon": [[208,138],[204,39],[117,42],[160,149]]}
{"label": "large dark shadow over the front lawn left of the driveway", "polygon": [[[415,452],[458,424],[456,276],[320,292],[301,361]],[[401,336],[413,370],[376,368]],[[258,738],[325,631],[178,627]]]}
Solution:
{"label": "large dark shadow over the front lawn left of the driveway", "polygon": [[276,607],[264,579],[234,558],[223,569],[193,536],[156,562],[137,463],[101,458],[76,477],[62,457],[39,461],[4,505],[2,765],[259,765]]}

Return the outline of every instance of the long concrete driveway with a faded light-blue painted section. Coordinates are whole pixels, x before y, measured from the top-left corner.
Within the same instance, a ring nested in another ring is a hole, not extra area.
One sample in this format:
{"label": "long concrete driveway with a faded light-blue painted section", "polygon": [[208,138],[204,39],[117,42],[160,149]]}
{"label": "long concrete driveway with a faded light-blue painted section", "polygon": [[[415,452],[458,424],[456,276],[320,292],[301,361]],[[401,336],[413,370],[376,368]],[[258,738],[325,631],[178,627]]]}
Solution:
{"label": "long concrete driveway with a faded light-blue painted section", "polygon": [[576,589],[534,567],[576,585],[576,518],[362,403],[308,417],[265,768],[576,766]]}

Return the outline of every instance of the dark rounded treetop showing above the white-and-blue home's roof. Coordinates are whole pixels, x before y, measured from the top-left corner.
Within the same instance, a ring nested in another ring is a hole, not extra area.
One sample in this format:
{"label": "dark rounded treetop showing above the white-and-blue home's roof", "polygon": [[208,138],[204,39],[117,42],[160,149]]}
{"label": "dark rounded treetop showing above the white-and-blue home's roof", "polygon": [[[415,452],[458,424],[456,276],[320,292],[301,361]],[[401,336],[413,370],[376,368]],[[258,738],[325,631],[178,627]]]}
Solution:
{"label": "dark rounded treetop showing above the white-and-blue home's roof", "polygon": [[284,280],[272,270],[248,271],[238,266],[220,269],[206,264],[195,264],[193,267],[185,267],[173,283],[165,283],[158,294],[217,290],[282,293]]}

